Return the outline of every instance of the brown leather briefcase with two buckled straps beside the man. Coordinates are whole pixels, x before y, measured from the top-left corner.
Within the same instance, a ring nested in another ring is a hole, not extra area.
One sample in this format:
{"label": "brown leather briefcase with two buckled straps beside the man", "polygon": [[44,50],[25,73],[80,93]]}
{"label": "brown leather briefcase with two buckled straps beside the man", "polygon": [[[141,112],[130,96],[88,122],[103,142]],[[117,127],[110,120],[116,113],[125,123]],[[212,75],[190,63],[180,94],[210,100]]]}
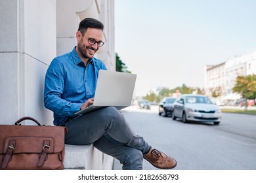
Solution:
{"label": "brown leather briefcase with two buckled straps beside the man", "polygon": [[[21,125],[32,120],[37,125]],[[31,117],[0,125],[0,169],[63,169],[64,127],[41,125]]]}

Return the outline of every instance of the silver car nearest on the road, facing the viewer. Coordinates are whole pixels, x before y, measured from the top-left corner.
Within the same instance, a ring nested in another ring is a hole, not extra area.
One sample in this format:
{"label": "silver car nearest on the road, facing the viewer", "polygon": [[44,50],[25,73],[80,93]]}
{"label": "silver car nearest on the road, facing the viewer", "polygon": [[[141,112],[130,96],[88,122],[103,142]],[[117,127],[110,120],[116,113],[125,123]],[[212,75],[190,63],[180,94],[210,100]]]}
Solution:
{"label": "silver car nearest on the road, facing the viewer", "polygon": [[184,94],[173,103],[173,120],[181,118],[182,122],[213,122],[219,125],[222,114],[220,108],[205,95]]}

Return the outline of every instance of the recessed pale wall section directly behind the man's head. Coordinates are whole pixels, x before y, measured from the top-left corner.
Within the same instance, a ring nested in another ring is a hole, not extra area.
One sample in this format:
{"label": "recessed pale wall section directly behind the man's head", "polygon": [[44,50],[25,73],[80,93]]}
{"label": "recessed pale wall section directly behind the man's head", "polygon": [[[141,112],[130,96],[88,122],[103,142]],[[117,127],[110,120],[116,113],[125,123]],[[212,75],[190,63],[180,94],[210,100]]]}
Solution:
{"label": "recessed pale wall section directly behind the man's head", "polygon": [[70,52],[76,45],[75,33],[79,22],[91,17],[104,24],[104,46],[98,50],[96,58],[102,59],[109,70],[116,71],[114,50],[114,1],[106,0],[57,0],[56,34],[57,55]]}

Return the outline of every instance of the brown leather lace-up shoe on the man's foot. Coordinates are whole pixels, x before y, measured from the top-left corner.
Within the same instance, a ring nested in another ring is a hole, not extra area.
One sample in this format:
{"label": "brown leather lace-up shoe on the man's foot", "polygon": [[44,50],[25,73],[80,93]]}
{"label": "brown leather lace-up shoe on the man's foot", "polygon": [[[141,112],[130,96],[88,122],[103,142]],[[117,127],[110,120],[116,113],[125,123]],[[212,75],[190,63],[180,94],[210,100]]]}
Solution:
{"label": "brown leather lace-up shoe on the man's foot", "polygon": [[177,165],[175,159],[154,148],[151,148],[147,154],[144,154],[143,158],[158,169],[173,169]]}

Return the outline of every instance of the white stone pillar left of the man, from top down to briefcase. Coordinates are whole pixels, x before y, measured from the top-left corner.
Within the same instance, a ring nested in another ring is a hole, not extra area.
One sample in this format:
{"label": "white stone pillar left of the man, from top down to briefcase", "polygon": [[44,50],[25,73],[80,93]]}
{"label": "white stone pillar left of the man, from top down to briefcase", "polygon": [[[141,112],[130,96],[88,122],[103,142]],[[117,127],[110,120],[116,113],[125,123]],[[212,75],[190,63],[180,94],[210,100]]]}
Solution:
{"label": "white stone pillar left of the man, from top down to briefcase", "polygon": [[53,124],[43,106],[47,65],[56,56],[56,2],[0,2],[0,124],[32,116]]}

